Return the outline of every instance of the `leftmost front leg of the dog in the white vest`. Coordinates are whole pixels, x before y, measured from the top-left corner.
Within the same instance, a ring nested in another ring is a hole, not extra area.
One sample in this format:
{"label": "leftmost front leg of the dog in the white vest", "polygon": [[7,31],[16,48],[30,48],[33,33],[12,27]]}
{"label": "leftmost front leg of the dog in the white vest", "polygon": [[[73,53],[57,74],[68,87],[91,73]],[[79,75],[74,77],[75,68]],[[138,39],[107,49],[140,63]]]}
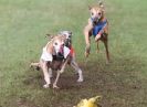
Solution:
{"label": "leftmost front leg of the dog in the white vest", "polygon": [[41,61],[41,65],[42,65],[43,74],[44,74],[44,81],[46,82],[46,84],[44,84],[43,87],[48,88],[51,84],[50,75],[48,72],[48,62]]}

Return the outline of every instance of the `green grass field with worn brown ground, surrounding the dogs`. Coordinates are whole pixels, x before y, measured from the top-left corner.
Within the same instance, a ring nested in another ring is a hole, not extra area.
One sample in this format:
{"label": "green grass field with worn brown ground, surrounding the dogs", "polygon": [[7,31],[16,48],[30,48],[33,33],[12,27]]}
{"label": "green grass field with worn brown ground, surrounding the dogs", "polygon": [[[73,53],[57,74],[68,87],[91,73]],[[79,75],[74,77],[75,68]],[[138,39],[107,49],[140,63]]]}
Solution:
{"label": "green grass field with worn brown ground, surrounding the dogs", "polygon": [[[103,96],[103,107],[147,107],[147,1],[105,0],[112,62],[105,50],[84,57],[83,28],[96,0],[0,0],[0,107],[73,107],[82,98]],[[76,60],[85,81],[67,67],[60,90],[44,89],[38,61],[45,34],[72,30]]]}

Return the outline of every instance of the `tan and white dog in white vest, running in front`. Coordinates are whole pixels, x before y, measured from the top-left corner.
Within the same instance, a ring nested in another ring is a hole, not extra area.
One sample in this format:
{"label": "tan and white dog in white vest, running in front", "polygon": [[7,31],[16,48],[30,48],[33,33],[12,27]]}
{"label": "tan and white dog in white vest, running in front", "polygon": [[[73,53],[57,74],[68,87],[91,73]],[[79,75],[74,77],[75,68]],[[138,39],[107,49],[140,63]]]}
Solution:
{"label": "tan and white dog in white vest, running in front", "polygon": [[51,41],[43,47],[43,52],[39,63],[31,63],[31,66],[40,67],[44,74],[45,85],[44,88],[50,87],[52,69],[57,71],[56,78],[53,83],[53,88],[57,87],[57,81],[60,74],[64,72],[65,65],[70,63],[76,72],[78,73],[77,82],[83,82],[83,74],[81,68],[74,61],[74,56],[71,54],[71,50],[65,46],[65,41],[67,40],[66,34],[57,34],[52,38]]}

